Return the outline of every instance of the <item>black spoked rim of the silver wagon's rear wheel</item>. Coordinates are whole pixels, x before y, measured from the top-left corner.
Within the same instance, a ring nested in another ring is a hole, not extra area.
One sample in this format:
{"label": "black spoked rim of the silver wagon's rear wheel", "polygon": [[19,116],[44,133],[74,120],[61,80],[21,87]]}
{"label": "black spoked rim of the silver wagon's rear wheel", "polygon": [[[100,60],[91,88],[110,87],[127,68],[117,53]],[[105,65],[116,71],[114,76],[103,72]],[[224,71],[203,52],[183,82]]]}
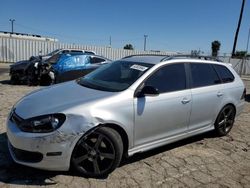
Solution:
{"label": "black spoked rim of the silver wagon's rear wheel", "polygon": [[234,108],[231,106],[225,107],[218,119],[218,129],[220,129],[225,134],[228,133],[233,127],[234,117]]}

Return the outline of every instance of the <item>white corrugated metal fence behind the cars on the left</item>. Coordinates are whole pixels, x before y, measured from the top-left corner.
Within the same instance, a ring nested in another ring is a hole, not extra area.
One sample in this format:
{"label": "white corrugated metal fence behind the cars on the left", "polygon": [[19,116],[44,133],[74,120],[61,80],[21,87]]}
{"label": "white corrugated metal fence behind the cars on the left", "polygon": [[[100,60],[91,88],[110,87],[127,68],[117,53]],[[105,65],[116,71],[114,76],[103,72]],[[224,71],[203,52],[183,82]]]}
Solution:
{"label": "white corrugated metal fence behind the cars on the left", "polygon": [[16,62],[27,60],[31,56],[47,54],[58,48],[76,48],[95,51],[98,55],[116,60],[124,56],[134,54],[175,54],[171,52],[152,52],[139,50],[113,49],[109,47],[86,46],[76,44],[64,44],[59,42],[38,41],[30,39],[4,38],[0,37],[0,62]]}

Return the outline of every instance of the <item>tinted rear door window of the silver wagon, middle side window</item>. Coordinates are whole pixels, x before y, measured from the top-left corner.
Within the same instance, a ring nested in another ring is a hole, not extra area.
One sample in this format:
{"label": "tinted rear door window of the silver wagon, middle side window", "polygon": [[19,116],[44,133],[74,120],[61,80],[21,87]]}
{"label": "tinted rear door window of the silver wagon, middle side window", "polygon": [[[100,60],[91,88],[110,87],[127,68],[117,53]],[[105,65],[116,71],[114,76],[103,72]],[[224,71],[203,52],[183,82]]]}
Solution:
{"label": "tinted rear door window of the silver wagon, middle side window", "polygon": [[220,83],[216,71],[207,63],[190,63],[192,87],[210,86]]}

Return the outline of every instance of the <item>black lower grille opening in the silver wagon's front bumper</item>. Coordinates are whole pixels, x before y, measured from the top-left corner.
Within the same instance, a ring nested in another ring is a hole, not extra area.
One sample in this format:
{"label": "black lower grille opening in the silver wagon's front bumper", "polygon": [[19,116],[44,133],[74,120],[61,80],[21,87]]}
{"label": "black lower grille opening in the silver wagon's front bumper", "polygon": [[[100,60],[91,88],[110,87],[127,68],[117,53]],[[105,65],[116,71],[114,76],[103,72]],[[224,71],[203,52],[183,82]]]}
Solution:
{"label": "black lower grille opening in the silver wagon's front bumper", "polygon": [[31,152],[31,151],[25,151],[21,149],[17,149],[14,146],[10,144],[11,151],[15,155],[15,158],[22,162],[29,162],[29,163],[38,163],[42,161],[43,154],[39,152]]}

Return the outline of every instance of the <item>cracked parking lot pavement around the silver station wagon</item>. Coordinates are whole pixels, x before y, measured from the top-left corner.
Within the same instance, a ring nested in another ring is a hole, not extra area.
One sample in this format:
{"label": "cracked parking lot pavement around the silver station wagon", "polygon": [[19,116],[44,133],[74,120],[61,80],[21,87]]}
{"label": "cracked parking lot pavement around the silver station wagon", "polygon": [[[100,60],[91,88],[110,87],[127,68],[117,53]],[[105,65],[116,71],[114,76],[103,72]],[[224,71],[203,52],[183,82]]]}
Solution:
{"label": "cracked parking lot pavement around the silver station wagon", "polygon": [[[250,96],[226,137],[212,132],[123,160],[104,179],[48,172],[15,164],[8,153],[5,122],[11,107],[38,87],[10,85],[0,64],[0,187],[250,187]],[[247,91],[250,79],[244,78]],[[204,108],[205,110],[205,108]]]}

